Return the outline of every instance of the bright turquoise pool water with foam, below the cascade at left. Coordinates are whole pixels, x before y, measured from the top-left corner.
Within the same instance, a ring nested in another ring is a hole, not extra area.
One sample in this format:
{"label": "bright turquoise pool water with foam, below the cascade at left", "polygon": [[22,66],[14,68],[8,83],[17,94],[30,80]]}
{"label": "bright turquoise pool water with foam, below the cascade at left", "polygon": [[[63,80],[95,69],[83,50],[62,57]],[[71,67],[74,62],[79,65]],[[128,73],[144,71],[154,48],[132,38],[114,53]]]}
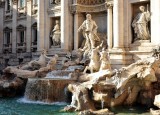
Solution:
{"label": "bright turquoise pool water with foam, below the cascade at left", "polygon": [[60,112],[65,103],[44,104],[17,98],[0,98],[0,115],[76,115]]}

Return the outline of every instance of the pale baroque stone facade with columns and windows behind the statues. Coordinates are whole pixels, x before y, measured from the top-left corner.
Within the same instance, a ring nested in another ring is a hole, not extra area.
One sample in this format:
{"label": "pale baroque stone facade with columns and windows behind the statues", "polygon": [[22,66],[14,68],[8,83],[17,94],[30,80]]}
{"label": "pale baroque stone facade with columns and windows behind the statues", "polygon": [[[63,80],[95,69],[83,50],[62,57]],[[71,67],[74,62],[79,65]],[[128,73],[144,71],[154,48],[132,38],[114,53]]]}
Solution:
{"label": "pale baroque stone facade with columns and windows behind the statues", "polygon": [[[134,41],[132,21],[140,6],[151,12],[150,39]],[[113,68],[128,65],[160,44],[159,6],[158,0],[1,0],[0,61],[18,65],[43,49],[54,55],[80,48],[84,38],[77,31],[90,13],[106,36]],[[54,45],[53,38],[60,43]]]}

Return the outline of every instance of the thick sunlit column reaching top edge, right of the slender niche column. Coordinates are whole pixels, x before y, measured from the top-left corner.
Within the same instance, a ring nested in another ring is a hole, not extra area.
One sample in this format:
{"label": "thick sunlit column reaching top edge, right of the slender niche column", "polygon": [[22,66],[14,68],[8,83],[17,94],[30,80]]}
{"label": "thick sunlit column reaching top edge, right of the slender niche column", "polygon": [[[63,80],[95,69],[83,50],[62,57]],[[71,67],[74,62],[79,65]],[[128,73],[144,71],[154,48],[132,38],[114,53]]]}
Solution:
{"label": "thick sunlit column reaching top edge, right of the slender niche column", "polygon": [[123,49],[124,23],[123,23],[123,0],[114,0],[113,25],[114,25],[114,48]]}

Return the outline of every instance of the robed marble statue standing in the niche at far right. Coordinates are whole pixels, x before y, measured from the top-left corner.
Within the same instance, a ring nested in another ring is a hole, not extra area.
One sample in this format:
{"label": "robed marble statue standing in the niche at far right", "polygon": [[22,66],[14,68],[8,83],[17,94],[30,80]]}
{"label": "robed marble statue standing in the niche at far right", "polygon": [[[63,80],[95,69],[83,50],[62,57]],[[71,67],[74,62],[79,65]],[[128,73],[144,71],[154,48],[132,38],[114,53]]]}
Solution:
{"label": "robed marble statue standing in the niche at far right", "polygon": [[132,27],[134,29],[135,34],[135,40],[149,40],[150,39],[150,33],[148,28],[148,22],[150,21],[150,12],[148,11],[148,5],[147,5],[147,11],[145,11],[144,6],[139,7],[141,13],[138,13],[137,16],[134,18],[132,22]]}

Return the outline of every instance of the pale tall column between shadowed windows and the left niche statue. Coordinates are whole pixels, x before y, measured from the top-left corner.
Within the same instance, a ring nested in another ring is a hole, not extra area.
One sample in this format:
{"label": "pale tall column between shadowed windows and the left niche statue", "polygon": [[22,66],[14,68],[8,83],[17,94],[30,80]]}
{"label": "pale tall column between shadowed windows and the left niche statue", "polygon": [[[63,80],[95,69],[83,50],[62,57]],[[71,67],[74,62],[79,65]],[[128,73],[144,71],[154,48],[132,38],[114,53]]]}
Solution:
{"label": "pale tall column between shadowed windows and the left niche statue", "polygon": [[44,2],[45,2],[45,0],[38,0],[38,16],[37,16],[38,39],[37,39],[37,51],[42,51],[44,49],[44,38],[45,38]]}

